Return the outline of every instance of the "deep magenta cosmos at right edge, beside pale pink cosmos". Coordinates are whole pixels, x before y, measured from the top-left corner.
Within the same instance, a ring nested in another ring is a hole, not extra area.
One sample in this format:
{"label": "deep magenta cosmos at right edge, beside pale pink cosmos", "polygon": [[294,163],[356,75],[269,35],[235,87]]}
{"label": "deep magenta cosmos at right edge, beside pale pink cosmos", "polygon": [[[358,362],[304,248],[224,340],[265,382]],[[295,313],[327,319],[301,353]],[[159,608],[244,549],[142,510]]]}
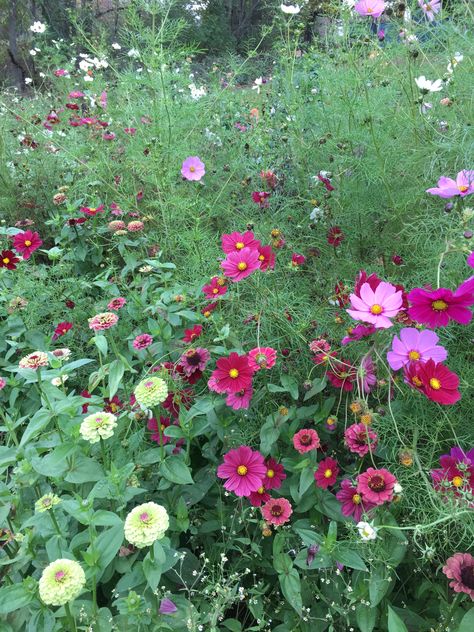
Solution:
{"label": "deep magenta cosmos at right edge, beside pale pink cosmos", "polygon": [[450,320],[467,325],[472,318],[469,307],[474,304],[469,281],[462,283],[455,292],[444,287],[439,290],[415,288],[408,294],[411,303],[408,316],[433,328],[446,327]]}

